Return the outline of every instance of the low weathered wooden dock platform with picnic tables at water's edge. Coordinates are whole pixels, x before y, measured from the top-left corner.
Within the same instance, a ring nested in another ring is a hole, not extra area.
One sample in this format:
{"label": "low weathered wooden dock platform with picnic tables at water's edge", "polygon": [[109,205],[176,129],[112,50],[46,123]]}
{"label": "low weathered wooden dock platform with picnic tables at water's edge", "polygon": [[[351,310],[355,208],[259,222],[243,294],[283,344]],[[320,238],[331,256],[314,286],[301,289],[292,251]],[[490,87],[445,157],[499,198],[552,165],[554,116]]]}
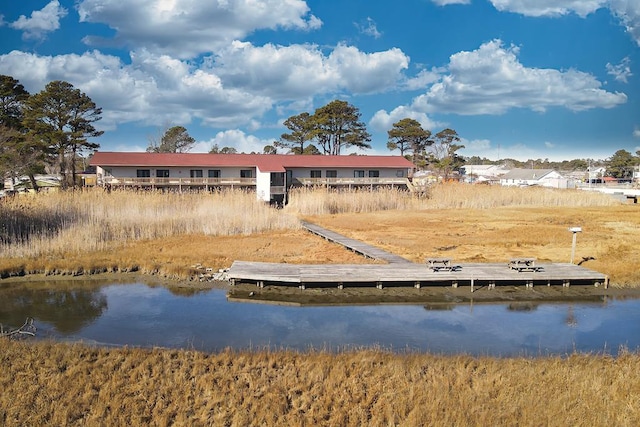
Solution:
{"label": "low weathered wooden dock platform with picnic tables at water's edge", "polygon": [[275,264],[235,261],[228,276],[232,284],[338,288],[348,286],[469,286],[489,289],[500,285],[603,285],[606,275],[569,263],[540,263],[535,271],[518,271],[505,263],[461,263],[450,271],[434,271],[427,264]]}

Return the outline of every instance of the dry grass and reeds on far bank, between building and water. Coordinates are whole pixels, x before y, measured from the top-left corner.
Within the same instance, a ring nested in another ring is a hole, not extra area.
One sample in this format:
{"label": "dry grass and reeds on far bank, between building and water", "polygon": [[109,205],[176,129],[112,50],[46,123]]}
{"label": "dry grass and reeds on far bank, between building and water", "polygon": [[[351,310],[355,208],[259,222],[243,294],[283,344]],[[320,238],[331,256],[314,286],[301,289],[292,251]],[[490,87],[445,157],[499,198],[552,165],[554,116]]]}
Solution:
{"label": "dry grass and reeds on far bank, between building and water", "polygon": [[[187,279],[192,265],[234,260],[364,263],[300,230],[304,217],[422,262],[568,262],[570,226],[583,227],[576,261],[612,285],[640,285],[640,212],[607,195],[545,188],[439,185],[428,198],[392,189],[300,189],[275,210],[246,192],[149,193],[100,189],[0,203],[0,276],[140,271]],[[593,259],[591,259],[593,258]]]}

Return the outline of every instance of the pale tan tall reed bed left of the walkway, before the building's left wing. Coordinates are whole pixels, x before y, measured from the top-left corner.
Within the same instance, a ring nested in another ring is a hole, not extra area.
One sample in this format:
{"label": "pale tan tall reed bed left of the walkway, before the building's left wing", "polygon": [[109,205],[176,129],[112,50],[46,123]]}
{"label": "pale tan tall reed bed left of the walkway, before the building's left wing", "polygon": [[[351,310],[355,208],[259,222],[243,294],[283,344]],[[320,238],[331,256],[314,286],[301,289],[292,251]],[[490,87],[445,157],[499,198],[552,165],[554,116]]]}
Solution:
{"label": "pale tan tall reed bed left of the walkway, before the building's left wing", "polygon": [[39,257],[112,250],[132,240],[225,236],[299,228],[253,193],[160,193],[101,189],[20,196],[0,203],[0,254]]}

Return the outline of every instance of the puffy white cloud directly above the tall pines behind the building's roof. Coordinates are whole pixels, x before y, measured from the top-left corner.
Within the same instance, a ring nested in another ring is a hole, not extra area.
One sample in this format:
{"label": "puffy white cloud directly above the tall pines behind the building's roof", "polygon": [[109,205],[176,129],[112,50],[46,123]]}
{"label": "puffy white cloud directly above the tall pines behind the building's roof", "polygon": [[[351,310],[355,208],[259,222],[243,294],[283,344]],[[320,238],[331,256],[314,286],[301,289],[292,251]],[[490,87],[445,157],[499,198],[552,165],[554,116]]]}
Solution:
{"label": "puffy white cloud directly above the tall pines behind the building's roof", "polygon": [[313,45],[258,47],[235,41],[219,52],[215,64],[231,86],[290,100],[341,90],[383,92],[401,80],[409,58],[395,48],[365,53],[338,45],[327,56]]}

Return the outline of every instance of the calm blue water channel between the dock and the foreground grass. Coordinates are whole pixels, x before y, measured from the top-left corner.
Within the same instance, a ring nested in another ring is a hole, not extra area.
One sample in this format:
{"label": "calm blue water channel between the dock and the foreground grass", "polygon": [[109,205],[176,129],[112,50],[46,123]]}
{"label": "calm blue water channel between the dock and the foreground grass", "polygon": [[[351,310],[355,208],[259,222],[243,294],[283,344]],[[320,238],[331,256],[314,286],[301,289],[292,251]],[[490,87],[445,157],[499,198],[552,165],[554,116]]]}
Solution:
{"label": "calm blue water channel between the dock and the foreground grass", "polygon": [[145,284],[34,290],[0,285],[0,323],[35,318],[40,337],[215,351],[225,347],[546,355],[640,349],[640,300],[539,305],[285,307],[174,294]]}

